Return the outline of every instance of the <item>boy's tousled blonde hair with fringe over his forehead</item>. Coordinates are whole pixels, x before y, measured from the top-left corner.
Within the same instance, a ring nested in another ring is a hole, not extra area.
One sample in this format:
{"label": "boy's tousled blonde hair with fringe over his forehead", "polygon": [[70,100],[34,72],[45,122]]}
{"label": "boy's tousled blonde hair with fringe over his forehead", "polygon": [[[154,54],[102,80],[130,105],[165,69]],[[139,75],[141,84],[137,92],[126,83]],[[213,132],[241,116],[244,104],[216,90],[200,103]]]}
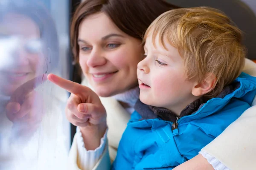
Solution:
{"label": "boy's tousled blonde hair with fringe over his forehead", "polygon": [[159,35],[165,49],[164,40],[167,40],[179,50],[188,79],[201,82],[210,74],[216,76],[215,88],[207,94],[209,97],[217,96],[244,67],[246,52],[242,32],[217,9],[195,7],[167,11],[151,23],[144,41],[149,35],[154,45]]}

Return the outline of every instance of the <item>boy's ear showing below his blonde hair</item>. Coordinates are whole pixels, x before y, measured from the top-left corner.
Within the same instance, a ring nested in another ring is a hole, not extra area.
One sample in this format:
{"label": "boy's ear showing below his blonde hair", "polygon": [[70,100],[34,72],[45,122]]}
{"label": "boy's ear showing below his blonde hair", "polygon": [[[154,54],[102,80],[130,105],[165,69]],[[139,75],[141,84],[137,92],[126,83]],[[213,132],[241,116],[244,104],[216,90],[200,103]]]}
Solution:
{"label": "boy's ear showing below his blonde hair", "polygon": [[201,82],[196,82],[195,86],[192,89],[192,94],[194,96],[202,96],[209,93],[215,88],[215,82],[217,78],[214,74],[208,73],[206,77]]}

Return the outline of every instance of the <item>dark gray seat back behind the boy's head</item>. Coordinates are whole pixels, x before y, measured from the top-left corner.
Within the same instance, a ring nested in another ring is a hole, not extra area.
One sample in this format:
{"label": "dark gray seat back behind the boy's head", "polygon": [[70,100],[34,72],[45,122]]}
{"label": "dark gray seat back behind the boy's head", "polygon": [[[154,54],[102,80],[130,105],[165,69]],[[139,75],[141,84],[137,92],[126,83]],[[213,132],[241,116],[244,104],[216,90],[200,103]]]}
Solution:
{"label": "dark gray seat back behind the boy's head", "polygon": [[[244,0],[245,2],[250,0]],[[244,44],[247,47],[247,58],[256,59],[256,1],[251,0],[247,6],[240,0],[167,0],[180,7],[209,6],[225,12],[244,32]]]}

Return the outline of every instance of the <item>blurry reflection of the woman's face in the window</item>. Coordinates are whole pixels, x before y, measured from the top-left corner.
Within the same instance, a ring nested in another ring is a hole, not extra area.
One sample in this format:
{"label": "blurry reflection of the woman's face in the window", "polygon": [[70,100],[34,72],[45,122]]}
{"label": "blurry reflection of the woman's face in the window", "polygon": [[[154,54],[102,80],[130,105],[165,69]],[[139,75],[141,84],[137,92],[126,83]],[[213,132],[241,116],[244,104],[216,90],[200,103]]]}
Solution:
{"label": "blurry reflection of the woman's face in the window", "polygon": [[11,95],[43,63],[39,27],[25,15],[7,14],[0,21],[0,43],[0,94]]}

